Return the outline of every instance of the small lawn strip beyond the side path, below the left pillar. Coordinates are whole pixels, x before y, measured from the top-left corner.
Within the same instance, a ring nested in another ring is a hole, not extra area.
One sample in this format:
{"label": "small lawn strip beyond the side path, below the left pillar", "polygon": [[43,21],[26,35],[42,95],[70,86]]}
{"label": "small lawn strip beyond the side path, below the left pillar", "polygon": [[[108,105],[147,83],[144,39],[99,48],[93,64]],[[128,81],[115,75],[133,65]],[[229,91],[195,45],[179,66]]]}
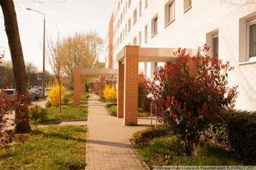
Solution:
{"label": "small lawn strip beyond the side path, below the left pillar", "polygon": [[52,122],[58,120],[73,120],[73,119],[87,119],[88,106],[82,105],[70,105],[67,107],[61,107],[61,113],[59,113],[58,107],[47,108],[46,120],[44,122]]}

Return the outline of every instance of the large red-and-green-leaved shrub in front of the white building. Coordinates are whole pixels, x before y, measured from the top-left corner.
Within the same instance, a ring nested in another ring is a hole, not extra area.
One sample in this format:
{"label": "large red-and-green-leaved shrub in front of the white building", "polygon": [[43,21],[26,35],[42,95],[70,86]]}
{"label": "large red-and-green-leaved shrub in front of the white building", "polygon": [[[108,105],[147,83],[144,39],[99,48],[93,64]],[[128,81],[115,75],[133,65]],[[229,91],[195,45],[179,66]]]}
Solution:
{"label": "large red-and-green-leaved shrub in front of the white building", "polygon": [[233,108],[238,97],[238,86],[227,86],[228,71],[233,70],[229,62],[207,56],[206,45],[200,50],[201,56],[191,58],[179,48],[174,52],[176,63],[158,67],[149,81],[149,92],[157,104],[153,112],[188,155],[209,124],[222,117],[222,110]]}

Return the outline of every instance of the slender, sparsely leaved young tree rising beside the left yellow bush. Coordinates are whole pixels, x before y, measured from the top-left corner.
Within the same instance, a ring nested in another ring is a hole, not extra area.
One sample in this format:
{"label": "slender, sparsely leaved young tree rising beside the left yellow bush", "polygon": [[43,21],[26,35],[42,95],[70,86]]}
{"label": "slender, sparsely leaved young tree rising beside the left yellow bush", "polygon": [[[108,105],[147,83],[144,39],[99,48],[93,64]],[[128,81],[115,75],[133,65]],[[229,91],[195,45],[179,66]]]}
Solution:
{"label": "slender, sparsely leaved young tree rising beside the left yellow bush", "polygon": [[53,75],[55,80],[59,84],[59,100],[60,100],[60,112],[61,112],[61,84],[64,72],[62,71],[63,60],[66,57],[63,51],[63,43],[60,39],[60,33],[58,33],[57,42],[54,43],[51,35],[47,36],[47,49],[46,49],[46,59],[49,63],[51,70],[53,70]]}

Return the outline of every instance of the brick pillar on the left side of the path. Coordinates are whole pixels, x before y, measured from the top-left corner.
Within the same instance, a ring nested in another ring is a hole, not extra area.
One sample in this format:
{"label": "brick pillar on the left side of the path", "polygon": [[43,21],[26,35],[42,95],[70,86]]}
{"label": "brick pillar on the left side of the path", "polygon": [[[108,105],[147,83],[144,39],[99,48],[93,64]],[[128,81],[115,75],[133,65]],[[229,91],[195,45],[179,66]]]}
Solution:
{"label": "brick pillar on the left side of the path", "polygon": [[74,105],[81,104],[81,68],[74,68]]}

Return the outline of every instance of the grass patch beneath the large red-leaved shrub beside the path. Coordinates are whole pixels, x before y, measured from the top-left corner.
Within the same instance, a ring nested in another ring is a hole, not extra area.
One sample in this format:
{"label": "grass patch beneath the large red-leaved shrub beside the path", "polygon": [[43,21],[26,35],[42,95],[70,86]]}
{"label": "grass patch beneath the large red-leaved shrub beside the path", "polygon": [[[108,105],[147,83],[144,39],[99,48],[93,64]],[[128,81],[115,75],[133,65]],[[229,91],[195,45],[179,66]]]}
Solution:
{"label": "grass patch beneath the large red-leaved shrub beside the path", "polygon": [[149,165],[186,165],[186,166],[220,166],[243,165],[235,153],[226,152],[224,148],[212,142],[194,147],[193,156],[185,156],[175,137],[159,137],[150,141],[149,146],[138,146],[138,153]]}

